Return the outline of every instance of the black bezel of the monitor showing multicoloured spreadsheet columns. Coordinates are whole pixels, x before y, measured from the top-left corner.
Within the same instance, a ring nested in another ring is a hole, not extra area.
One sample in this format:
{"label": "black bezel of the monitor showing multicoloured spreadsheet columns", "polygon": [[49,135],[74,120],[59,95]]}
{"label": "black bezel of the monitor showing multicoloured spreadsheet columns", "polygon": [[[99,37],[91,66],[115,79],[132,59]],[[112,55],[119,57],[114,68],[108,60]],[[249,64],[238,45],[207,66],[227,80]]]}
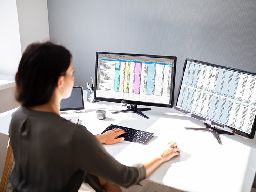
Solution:
{"label": "black bezel of the monitor showing multicoloured spreadsheet columns", "polygon": [[[151,102],[142,102],[142,101],[132,101],[132,100],[124,100],[124,99],[114,99],[114,98],[104,98],[97,97],[97,67],[98,67],[98,56],[99,54],[117,54],[117,55],[127,55],[127,56],[141,56],[141,57],[155,57],[155,58],[167,58],[174,59],[174,67],[173,67],[173,81],[171,83],[171,104],[162,104],[162,103],[151,103]],[[112,53],[112,52],[96,52],[96,64],[95,64],[95,89],[94,89],[94,99],[99,101],[108,101],[114,103],[123,103],[123,104],[134,104],[134,105],[144,105],[144,106],[158,106],[158,107],[167,107],[171,108],[174,106],[174,88],[175,88],[175,74],[176,74],[176,64],[177,57],[176,56],[159,56],[159,55],[147,55],[147,54],[133,54],[133,53]]]}

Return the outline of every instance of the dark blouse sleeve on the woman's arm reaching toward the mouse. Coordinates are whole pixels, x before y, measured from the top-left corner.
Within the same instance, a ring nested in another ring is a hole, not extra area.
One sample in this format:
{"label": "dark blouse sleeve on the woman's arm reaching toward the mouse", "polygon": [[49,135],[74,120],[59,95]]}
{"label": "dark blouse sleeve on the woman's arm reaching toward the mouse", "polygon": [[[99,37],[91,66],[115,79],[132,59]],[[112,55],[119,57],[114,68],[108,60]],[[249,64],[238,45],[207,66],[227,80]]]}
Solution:
{"label": "dark blouse sleeve on the woman's arm reaching toward the mouse", "polygon": [[71,154],[75,166],[117,186],[129,187],[146,177],[145,167],[119,163],[107,153],[97,138],[84,126],[75,128],[71,138]]}

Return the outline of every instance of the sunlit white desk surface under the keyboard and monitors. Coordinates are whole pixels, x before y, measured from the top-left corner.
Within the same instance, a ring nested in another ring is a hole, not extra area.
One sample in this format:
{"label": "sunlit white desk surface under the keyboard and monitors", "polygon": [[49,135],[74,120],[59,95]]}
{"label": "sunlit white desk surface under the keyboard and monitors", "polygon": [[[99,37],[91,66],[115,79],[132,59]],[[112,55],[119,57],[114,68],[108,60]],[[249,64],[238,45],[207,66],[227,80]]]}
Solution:
{"label": "sunlit white desk surface under the keyboard and monitors", "polygon": [[[185,130],[184,127],[204,127],[204,124],[173,108],[151,107],[144,111],[149,119],[135,113],[111,114],[122,109],[120,103],[88,103],[86,112],[67,113],[62,117],[78,116],[93,134],[100,134],[110,124],[154,133],[147,145],[122,141],[104,145],[106,150],[125,165],[147,161],[168,142],[177,142],[180,155],[163,163],[147,180],[189,192],[250,192],[256,168],[256,139],[239,135],[221,135],[219,145],[207,132]],[[106,110],[107,118],[99,120],[95,111]],[[6,113],[8,121],[11,113]],[[3,122],[4,117],[1,117]],[[6,120],[7,122],[7,120]],[[8,134],[8,129],[1,132]],[[132,154],[132,155],[129,155]]]}

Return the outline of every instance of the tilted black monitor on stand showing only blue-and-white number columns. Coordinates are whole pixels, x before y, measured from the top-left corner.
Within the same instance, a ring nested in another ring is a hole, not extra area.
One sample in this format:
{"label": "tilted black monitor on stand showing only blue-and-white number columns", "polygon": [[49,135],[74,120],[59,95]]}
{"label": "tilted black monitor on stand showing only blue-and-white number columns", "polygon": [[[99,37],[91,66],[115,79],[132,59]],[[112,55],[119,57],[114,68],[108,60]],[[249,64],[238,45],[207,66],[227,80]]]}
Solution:
{"label": "tilted black monitor on stand showing only blue-and-white number columns", "polygon": [[174,108],[204,121],[207,127],[203,130],[191,129],[208,130],[219,142],[218,133],[252,139],[256,129],[256,73],[186,59]]}

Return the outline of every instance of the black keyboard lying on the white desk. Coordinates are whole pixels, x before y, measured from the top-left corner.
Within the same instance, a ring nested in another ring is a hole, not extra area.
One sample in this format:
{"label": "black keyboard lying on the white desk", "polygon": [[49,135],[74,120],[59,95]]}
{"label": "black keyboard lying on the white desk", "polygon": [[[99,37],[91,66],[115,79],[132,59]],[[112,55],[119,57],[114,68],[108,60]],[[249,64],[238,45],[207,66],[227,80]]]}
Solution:
{"label": "black keyboard lying on the white desk", "polygon": [[105,133],[108,130],[112,130],[114,128],[122,129],[125,131],[124,134],[118,136],[124,137],[125,141],[135,142],[135,143],[141,143],[143,145],[146,145],[146,143],[149,141],[149,139],[153,136],[153,133],[149,133],[146,131],[136,130],[128,127],[122,127],[119,125],[109,125],[108,128],[106,128],[101,134]]}

